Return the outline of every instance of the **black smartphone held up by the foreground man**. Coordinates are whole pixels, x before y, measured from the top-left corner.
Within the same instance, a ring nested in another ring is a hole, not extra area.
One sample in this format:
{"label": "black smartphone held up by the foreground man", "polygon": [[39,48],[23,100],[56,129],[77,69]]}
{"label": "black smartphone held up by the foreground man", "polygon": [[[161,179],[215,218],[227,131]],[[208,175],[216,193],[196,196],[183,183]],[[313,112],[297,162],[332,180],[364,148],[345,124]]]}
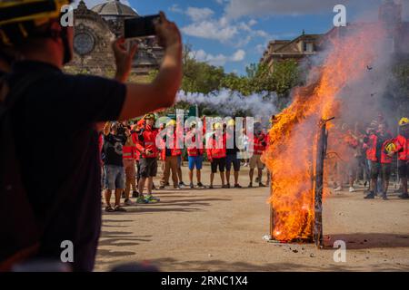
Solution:
{"label": "black smartphone held up by the foreground man", "polygon": [[155,35],[155,20],[160,19],[159,14],[125,19],[125,38],[146,37]]}

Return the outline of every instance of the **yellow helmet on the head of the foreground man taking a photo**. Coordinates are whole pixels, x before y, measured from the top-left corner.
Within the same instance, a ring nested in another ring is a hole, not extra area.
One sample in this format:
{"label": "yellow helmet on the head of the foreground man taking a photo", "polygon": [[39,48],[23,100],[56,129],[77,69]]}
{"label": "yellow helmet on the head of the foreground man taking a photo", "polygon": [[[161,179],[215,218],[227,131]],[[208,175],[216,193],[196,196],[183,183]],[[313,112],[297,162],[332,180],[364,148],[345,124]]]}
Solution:
{"label": "yellow helmet on the head of the foreground man taking a photo", "polygon": [[56,19],[73,0],[18,0],[0,2],[0,44],[13,46],[35,34],[35,28]]}

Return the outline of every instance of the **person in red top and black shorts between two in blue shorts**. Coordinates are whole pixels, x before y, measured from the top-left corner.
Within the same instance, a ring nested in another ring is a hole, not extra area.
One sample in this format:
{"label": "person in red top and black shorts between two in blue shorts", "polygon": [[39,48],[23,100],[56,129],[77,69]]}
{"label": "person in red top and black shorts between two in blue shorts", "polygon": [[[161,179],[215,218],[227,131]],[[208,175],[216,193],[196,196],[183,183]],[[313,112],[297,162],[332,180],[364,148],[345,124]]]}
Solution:
{"label": "person in red top and black shorts between two in blue shorts", "polygon": [[214,132],[212,136],[207,140],[207,159],[211,163],[212,172],[210,173],[210,187],[213,189],[214,173],[217,172],[217,167],[220,171],[220,178],[222,179],[222,188],[226,189],[224,184],[224,169],[225,169],[225,132],[221,123],[215,123],[213,126]]}

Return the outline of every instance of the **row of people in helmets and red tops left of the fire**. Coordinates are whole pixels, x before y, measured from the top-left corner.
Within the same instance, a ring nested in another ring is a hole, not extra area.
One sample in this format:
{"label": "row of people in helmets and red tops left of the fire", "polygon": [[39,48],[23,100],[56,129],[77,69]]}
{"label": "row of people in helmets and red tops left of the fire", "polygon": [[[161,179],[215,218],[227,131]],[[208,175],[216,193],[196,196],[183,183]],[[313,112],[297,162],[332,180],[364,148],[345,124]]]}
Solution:
{"label": "row of people in helmets and red tops left of the fire", "polygon": [[[131,206],[134,203],[156,203],[160,199],[154,196],[154,189],[166,187],[177,190],[187,187],[214,189],[214,177],[217,172],[220,174],[223,189],[241,189],[238,178],[242,163],[250,168],[248,187],[253,187],[254,169],[257,169],[255,182],[259,187],[265,187],[262,180],[264,163],[261,161],[261,156],[268,140],[261,123],[254,124],[254,134],[250,135],[249,140],[245,130],[244,134],[236,136],[233,119],[225,123],[215,122],[213,131],[205,138],[203,138],[204,127],[199,128],[196,122],[192,122],[189,129],[184,131],[181,140],[176,133],[175,120],[167,121],[160,128],[155,128],[155,122],[154,113],[145,114],[144,118],[135,121],[135,124],[128,121],[106,122],[99,140],[104,169],[102,185],[105,189],[105,211],[125,211],[120,204],[121,197],[125,198],[125,206]],[[158,134],[161,135],[158,137]],[[228,146],[228,140],[231,140],[232,146]],[[238,142],[241,144],[237,144]],[[188,186],[183,179],[182,164],[185,157],[188,163]],[[204,160],[209,161],[211,169],[210,184],[207,186],[202,182]],[[154,178],[158,174],[158,162],[162,169],[162,176],[160,185],[156,188]],[[114,206],[111,204],[113,191],[115,192]],[[131,200],[132,198],[135,198],[135,202]]]}

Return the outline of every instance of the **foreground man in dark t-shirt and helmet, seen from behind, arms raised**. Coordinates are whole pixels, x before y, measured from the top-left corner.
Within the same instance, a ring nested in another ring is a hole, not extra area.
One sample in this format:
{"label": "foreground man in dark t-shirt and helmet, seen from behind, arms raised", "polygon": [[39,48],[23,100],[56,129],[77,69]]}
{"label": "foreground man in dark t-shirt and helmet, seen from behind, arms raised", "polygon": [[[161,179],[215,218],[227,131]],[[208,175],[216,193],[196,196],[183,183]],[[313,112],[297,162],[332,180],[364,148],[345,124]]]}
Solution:
{"label": "foreground man in dark t-shirt and helmet, seen from behind, arms raised", "polygon": [[[0,270],[32,257],[59,260],[66,240],[74,246],[73,269],[93,270],[101,230],[95,123],[171,106],[181,82],[181,36],[165,14],[155,24],[165,55],[152,83],[122,83],[136,51],[127,52],[124,41],[113,46],[117,81],[63,73],[73,55],[73,27],[60,22],[61,6],[69,2],[0,3],[0,51],[12,49],[20,60],[6,75],[0,99],[7,108],[2,138],[10,137],[0,145],[2,169],[9,168],[0,171]],[[32,121],[46,126],[26,130]],[[45,136],[58,146],[47,146]]]}

